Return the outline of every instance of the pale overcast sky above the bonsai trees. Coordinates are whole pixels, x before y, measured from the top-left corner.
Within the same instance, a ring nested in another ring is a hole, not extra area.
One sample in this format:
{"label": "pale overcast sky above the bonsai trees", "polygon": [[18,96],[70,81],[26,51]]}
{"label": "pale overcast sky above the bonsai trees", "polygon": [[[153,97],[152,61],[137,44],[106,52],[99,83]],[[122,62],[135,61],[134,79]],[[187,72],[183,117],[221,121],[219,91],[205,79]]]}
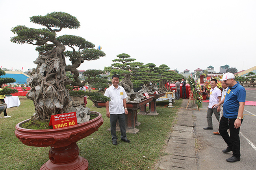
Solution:
{"label": "pale overcast sky above the bonsai trees", "polygon": [[246,70],[256,66],[255,9],[255,0],[0,0],[0,66],[35,68],[35,46],[10,42],[10,30],[43,28],[30,17],[61,11],[76,16],[81,27],[58,36],[83,37],[106,53],[78,69],[104,69],[127,53],[138,62],[180,72],[208,66],[219,72],[226,64]]}

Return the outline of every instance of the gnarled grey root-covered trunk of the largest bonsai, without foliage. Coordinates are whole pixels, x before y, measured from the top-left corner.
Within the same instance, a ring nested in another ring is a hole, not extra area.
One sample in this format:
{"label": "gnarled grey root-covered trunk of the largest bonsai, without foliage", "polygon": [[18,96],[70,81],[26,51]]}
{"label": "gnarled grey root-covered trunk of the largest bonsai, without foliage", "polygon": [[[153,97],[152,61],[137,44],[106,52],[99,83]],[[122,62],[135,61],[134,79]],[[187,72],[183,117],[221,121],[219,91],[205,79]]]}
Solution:
{"label": "gnarled grey root-covered trunk of the largest bonsai, without foliage", "polygon": [[69,93],[65,88],[65,46],[60,44],[46,53],[39,53],[34,61],[37,68],[27,80],[31,90],[26,95],[33,100],[35,116],[33,119],[50,119],[51,115],[65,113],[69,105]]}

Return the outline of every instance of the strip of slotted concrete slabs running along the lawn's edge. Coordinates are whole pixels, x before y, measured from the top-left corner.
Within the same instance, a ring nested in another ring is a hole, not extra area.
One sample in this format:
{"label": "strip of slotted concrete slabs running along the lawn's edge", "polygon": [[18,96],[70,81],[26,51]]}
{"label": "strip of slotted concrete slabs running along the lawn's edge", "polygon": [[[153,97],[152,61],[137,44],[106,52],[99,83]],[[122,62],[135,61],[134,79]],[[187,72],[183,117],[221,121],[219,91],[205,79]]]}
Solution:
{"label": "strip of slotted concrete slabs running along the lawn's edge", "polygon": [[[187,101],[183,101],[183,108]],[[158,170],[197,170],[192,110],[178,112],[177,123],[169,134],[164,152],[156,165]]]}

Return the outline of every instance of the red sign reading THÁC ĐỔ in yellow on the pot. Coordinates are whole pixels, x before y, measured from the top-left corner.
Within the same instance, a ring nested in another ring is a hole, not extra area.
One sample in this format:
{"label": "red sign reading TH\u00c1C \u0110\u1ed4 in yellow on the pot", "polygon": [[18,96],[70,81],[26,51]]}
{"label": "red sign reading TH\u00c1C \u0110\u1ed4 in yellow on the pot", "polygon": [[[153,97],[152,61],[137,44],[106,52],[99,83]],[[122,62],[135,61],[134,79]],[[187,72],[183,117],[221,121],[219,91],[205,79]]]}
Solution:
{"label": "red sign reading TH\u00c1C \u0110\u1ed4 in yellow on the pot", "polygon": [[52,115],[49,126],[52,126],[52,128],[57,129],[57,128],[74,126],[76,124],[77,124],[76,112],[70,112],[70,113]]}

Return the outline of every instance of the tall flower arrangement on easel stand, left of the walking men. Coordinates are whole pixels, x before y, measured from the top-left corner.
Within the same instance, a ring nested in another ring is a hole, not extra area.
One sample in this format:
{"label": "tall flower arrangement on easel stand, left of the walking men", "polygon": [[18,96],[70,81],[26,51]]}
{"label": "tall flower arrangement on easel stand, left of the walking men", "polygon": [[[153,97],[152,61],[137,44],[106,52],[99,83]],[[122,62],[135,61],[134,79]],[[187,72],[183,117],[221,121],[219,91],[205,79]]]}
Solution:
{"label": "tall flower arrangement on easel stand, left of the walking men", "polygon": [[193,96],[195,98],[195,103],[197,104],[198,108],[202,108],[202,101],[203,97],[200,95],[201,86],[200,84],[195,81],[195,79],[191,78],[188,80],[188,83],[191,88],[191,93],[193,93]]}

